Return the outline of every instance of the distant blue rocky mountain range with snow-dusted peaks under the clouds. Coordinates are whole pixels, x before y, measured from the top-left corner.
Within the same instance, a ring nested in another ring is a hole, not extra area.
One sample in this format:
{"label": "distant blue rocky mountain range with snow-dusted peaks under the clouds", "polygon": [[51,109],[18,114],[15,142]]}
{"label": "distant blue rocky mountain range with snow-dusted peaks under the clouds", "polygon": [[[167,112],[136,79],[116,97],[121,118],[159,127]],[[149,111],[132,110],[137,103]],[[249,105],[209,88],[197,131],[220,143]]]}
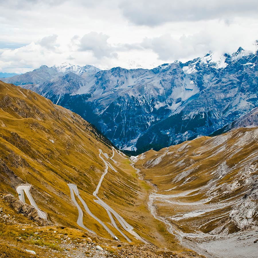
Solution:
{"label": "distant blue rocky mountain range with snow-dusted peaks under the clouds", "polygon": [[76,112],[133,154],[216,134],[241,120],[258,107],[257,62],[257,51],[239,47],[151,70],[63,63],[2,80]]}

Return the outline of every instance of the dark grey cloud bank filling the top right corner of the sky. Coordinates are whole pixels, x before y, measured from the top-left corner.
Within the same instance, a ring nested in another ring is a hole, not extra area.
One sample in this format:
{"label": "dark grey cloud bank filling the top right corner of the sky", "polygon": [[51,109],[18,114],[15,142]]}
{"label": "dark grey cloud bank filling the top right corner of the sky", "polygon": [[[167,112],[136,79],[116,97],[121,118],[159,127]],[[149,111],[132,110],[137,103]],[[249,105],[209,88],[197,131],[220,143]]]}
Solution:
{"label": "dark grey cloud bank filling the top right corner of the sky", "polygon": [[147,26],[258,15],[257,0],[123,0],[119,7],[130,22]]}

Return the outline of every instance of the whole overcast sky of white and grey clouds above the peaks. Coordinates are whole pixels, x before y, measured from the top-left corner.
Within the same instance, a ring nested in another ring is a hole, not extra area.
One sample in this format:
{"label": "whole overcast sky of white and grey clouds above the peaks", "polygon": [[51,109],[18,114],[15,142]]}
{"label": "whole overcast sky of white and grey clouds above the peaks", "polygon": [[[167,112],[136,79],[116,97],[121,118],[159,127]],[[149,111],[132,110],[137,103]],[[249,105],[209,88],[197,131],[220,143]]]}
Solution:
{"label": "whole overcast sky of white and grey clouds above the peaks", "polygon": [[251,50],[257,0],[0,0],[0,72],[61,62],[152,68]]}

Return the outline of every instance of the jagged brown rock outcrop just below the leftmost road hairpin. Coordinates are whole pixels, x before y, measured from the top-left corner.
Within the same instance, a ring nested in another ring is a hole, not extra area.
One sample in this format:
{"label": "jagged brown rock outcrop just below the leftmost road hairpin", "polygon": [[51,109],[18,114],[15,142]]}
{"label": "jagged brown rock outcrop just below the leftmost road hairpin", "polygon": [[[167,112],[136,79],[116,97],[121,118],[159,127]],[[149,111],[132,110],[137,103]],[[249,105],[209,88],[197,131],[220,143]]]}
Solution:
{"label": "jagged brown rock outcrop just below the leftmost road hairpin", "polygon": [[22,213],[24,216],[29,218],[30,220],[34,220],[39,222],[42,226],[46,226],[49,222],[43,220],[38,216],[37,210],[26,203],[20,202],[17,198],[15,198],[12,194],[7,194],[4,196],[4,200],[9,203],[9,206],[15,210],[17,213]]}

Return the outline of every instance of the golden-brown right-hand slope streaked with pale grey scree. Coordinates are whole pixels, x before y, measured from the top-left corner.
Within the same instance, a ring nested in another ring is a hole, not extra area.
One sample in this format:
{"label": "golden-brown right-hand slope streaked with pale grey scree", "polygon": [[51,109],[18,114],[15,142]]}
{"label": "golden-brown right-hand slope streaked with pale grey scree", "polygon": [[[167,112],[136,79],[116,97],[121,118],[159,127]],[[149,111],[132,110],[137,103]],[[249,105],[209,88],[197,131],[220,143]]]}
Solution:
{"label": "golden-brown right-hand slope streaked with pale grey scree", "polygon": [[257,229],[258,128],[147,151],[135,159],[157,216],[185,233]]}

